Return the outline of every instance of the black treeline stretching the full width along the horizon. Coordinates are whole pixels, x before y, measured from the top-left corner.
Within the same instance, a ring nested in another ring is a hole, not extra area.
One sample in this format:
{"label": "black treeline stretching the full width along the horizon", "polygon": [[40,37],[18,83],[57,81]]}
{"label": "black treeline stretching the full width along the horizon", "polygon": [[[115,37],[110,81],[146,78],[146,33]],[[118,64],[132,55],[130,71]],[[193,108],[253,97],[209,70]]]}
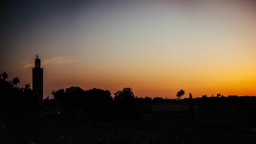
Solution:
{"label": "black treeline stretching the full width along the horizon", "polygon": [[[7,73],[0,74],[0,112],[3,118],[22,119],[27,116],[38,117],[38,113],[58,113],[97,121],[138,120],[142,114],[157,111],[157,105],[187,105],[192,115],[193,109],[197,107],[197,112],[207,111],[212,116],[228,113],[226,111],[233,107],[245,107],[248,113],[255,109],[255,97],[224,97],[217,94],[216,97],[203,95],[201,98],[192,98],[189,94],[189,98],[182,99],[184,91],[181,89],[177,92],[177,99],[171,100],[161,97],[136,97],[131,88],[123,88],[112,96],[108,90],[84,90],[79,86],[52,91],[53,99],[47,97],[43,100],[43,106],[39,106],[29,83],[22,88],[18,84],[17,77],[8,79]],[[172,108],[168,110],[172,111]]]}

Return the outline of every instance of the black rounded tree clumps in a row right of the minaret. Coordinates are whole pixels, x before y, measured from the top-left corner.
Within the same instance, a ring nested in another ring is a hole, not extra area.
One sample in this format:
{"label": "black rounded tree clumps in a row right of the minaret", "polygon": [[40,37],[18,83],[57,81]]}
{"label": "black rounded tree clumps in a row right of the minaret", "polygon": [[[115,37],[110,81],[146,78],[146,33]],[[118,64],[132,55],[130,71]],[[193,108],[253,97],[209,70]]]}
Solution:
{"label": "black rounded tree clumps in a row right of the minaret", "polygon": [[[59,113],[64,115],[79,115],[84,118],[97,118],[108,121],[114,119],[136,120],[142,113],[141,106],[151,106],[150,97],[135,97],[131,88],[124,88],[114,93],[103,89],[83,90],[78,86],[59,89],[52,92],[54,101],[58,101],[61,109]],[[49,99],[44,100],[44,106],[49,105]],[[47,110],[47,108],[46,108]],[[144,110],[144,109],[143,109]],[[143,111],[145,113],[146,110]]]}

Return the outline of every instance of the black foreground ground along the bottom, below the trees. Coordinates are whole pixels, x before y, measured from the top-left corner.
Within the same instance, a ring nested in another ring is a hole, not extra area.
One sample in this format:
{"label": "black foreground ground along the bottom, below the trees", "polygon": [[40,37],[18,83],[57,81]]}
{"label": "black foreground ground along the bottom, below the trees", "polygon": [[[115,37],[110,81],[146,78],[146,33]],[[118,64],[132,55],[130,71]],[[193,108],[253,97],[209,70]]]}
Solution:
{"label": "black foreground ground along the bottom, below the trees", "polygon": [[256,142],[255,120],[254,117],[151,113],[136,121],[98,121],[48,114],[42,115],[38,122],[16,121],[5,125],[0,143],[244,144]]}

